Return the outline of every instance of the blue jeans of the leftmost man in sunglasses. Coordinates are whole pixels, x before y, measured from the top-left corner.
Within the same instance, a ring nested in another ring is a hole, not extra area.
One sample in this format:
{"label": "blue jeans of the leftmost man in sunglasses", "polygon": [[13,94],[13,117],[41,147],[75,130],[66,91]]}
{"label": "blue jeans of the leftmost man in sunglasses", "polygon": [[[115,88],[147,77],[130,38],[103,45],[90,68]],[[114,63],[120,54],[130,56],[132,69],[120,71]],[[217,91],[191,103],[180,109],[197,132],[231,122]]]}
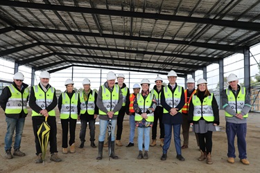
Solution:
{"label": "blue jeans of the leftmost man in sunglasses", "polygon": [[12,148],[12,135],[15,131],[14,149],[19,149],[21,145],[21,134],[23,134],[25,118],[8,118],[6,116],[7,130],[5,138],[5,151]]}

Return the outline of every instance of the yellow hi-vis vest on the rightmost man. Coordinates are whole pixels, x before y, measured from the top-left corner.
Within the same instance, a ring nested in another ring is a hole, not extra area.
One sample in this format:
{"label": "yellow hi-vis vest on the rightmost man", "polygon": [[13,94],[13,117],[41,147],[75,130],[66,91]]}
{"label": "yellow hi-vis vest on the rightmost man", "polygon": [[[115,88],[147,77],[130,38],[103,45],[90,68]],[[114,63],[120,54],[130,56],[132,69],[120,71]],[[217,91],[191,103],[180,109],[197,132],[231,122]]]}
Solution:
{"label": "yellow hi-vis vest on the rightmost man", "polygon": [[[245,106],[245,87],[241,87],[239,94],[236,96],[230,89],[226,89],[228,104],[236,113],[241,113],[243,107]],[[232,117],[227,111],[225,111],[225,116]],[[243,116],[243,118],[248,118],[248,113]]]}

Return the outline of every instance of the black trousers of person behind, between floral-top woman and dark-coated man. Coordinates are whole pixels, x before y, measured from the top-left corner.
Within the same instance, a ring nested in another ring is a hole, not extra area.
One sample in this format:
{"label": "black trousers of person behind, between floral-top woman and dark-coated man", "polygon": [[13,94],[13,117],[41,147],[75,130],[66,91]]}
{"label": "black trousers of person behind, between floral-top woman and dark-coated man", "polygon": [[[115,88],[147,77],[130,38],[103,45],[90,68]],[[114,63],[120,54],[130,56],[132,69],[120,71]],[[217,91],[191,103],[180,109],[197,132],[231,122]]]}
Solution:
{"label": "black trousers of person behind, between floral-top woman and dark-coated man", "polygon": [[159,138],[164,138],[165,133],[164,133],[164,124],[162,123],[162,115],[164,109],[162,107],[156,107],[155,112],[154,112],[154,121],[153,121],[153,127],[152,127],[152,139],[156,139],[157,136],[157,123],[159,120],[159,130],[160,130],[160,136]]}

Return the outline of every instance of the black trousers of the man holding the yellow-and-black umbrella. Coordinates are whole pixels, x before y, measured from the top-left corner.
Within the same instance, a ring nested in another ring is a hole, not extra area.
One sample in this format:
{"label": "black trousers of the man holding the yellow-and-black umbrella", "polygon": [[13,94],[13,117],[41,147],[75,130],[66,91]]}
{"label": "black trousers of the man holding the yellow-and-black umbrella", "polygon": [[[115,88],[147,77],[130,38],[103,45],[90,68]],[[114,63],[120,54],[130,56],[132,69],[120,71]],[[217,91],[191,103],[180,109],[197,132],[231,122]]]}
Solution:
{"label": "black trousers of the man holding the yellow-and-black umbrella", "polygon": [[[35,147],[36,147],[36,155],[42,153],[42,149],[40,146],[40,141],[37,136],[37,131],[42,125],[42,122],[45,121],[44,116],[33,116],[33,133],[35,136]],[[51,127],[50,134],[49,134],[49,143],[50,143],[50,152],[51,154],[58,152],[57,151],[57,125],[56,125],[56,117],[55,116],[49,116],[47,120],[49,126]]]}

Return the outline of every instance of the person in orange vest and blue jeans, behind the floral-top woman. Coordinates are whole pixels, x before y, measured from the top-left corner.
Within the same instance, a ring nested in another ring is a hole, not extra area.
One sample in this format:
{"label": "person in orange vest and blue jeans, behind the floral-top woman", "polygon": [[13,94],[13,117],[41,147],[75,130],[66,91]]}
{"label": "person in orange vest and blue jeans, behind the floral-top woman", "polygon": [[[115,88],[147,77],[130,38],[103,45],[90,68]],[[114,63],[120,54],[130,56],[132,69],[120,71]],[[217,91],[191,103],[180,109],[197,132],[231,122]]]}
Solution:
{"label": "person in orange vest and blue jeans, behind the floral-top woman", "polygon": [[135,137],[135,109],[134,109],[134,100],[138,93],[140,93],[140,85],[134,84],[132,86],[134,93],[131,93],[129,96],[129,107],[126,108],[126,113],[129,115],[129,126],[130,126],[130,134],[129,134],[129,143],[125,147],[133,147],[134,144],[134,137]]}

